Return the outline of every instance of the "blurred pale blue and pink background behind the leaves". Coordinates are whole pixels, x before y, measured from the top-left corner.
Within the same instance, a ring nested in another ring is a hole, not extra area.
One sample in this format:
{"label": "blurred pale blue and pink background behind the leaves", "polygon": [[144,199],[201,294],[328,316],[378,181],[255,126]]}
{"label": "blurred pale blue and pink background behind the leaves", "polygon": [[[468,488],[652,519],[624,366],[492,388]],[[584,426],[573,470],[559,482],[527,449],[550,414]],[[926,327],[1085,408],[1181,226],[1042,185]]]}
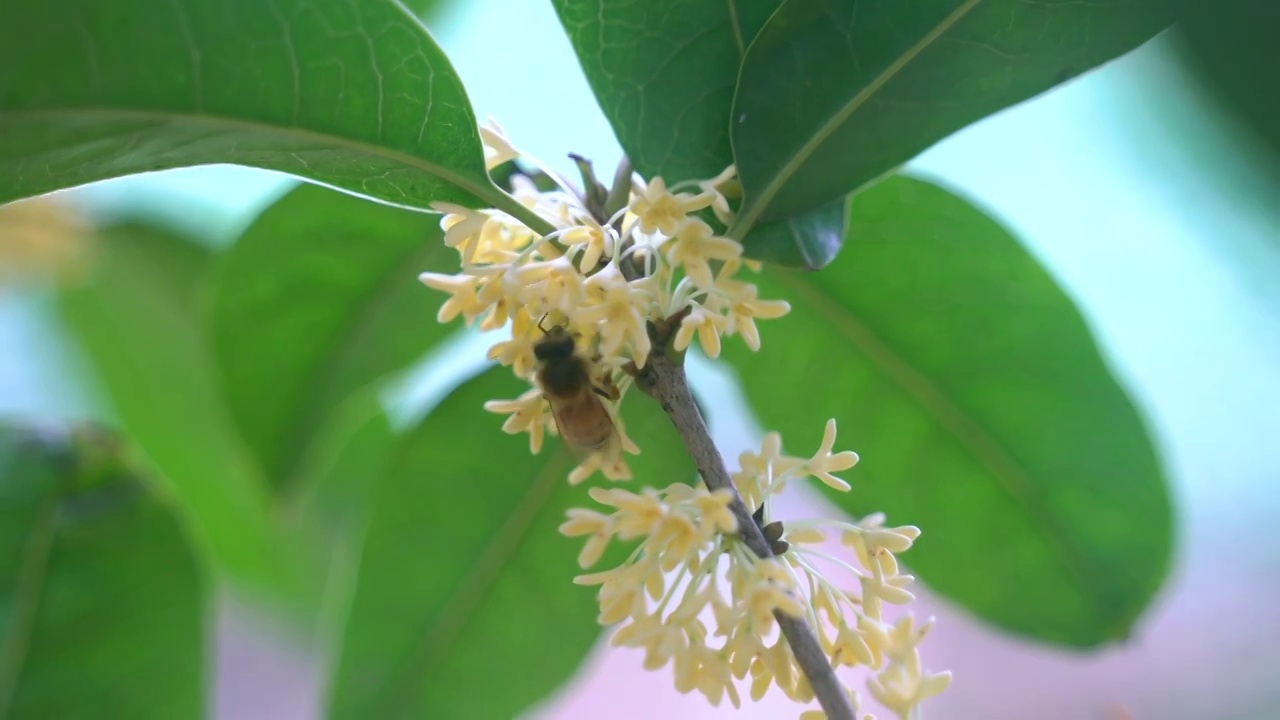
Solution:
{"label": "blurred pale blue and pink background behind the leaves", "polygon": [[[549,3],[442,3],[428,24],[476,114],[498,119],[517,146],[568,176],[570,151],[599,168],[617,163],[621,151]],[[1280,161],[1258,115],[1228,110],[1207,90],[1207,65],[1190,58],[1179,37],[1161,36],[909,167],[1001,219],[1078,302],[1151,428],[1180,521],[1161,596],[1126,642],[1101,651],[1005,637],[925,588],[915,612],[937,616],[925,662],[955,673],[951,689],[927,705],[929,717],[1280,716]],[[216,243],[292,186],[215,167],[65,196],[95,220],[146,213]],[[429,404],[474,370],[483,350],[458,343],[421,369],[407,397]],[[732,378],[707,363],[695,374],[701,389],[736,393]],[[86,378],[47,293],[0,288],[0,415],[95,418],[101,404]],[[731,457],[760,437],[742,405],[712,421]],[[856,470],[849,479],[856,492]],[[787,502],[796,512],[831,512],[801,492]],[[218,717],[319,715],[320,669],[270,618],[229,597],[218,637]],[[671,692],[669,673],[645,673],[639,652],[602,646],[529,716],[795,714],[772,696],[716,710],[701,696]]]}

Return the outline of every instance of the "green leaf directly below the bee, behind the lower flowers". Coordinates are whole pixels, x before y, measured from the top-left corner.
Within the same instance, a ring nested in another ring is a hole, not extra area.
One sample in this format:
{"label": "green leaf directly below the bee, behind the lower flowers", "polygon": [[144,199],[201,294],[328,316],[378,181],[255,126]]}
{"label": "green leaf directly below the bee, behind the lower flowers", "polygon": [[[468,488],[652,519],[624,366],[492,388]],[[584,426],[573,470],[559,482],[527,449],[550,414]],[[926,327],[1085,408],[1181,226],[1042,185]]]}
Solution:
{"label": "green leaf directly below the bee, behind the lower flowers", "polygon": [[[526,436],[504,434],[481,409],[521,386],[493,369],[398,443],[365,539],[333,716],[513,717],[568,680],[598,639],[594,589],[572,583],[581,543],[557,532],[568,507],[591,506],[566,480],[575,460],[556,438],[531,456]],[[657,405],[636,396],[625,409],[641,448],[628,457],[635,477],[692,478]]]}

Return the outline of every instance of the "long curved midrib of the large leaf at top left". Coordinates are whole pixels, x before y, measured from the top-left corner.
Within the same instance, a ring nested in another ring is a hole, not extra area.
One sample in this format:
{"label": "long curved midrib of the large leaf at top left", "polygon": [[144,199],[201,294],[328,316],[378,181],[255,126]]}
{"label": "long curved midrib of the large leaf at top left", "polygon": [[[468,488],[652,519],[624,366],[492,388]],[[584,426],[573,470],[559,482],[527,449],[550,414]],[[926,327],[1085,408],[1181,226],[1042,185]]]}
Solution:
{"label": "long curved midrib of the large leaf at top left", "polygon": [[[177,122],[177,123],[193,123],[193,124],[210,124],[210,126],[229,126],[230,128],[257,131],[264,133],[279,133],[279,135],[293,135],[303,140],[315,140],[320,145],[329,145],[337,149],[346,149],[353,152],[370,155],[374,158],[383,158],[401,165],[421,170],[429,176],[440,178],[454,187],[470,192],[480,200],[488,201],[494,208],[502,208],[506,202],[504,193],[499,197],[497,193],[497,187],[492,183],[481,183],[461,176],[443,165],[438,165],[417,155],[411,155],[402,150],[393,150],[383,145],[371,145],[366,141],[352,140],[343,136],[330,135],[326,132],[319,132],[306,128],[300,128],[294,126],[278,126],[270,124],[262,120],[252,120],[244,118],[236,118],[229,115],[210,115],[207,113],[177,113],[172,110],[125,110],[120,108],[102,108],[102,106],[82,106],[82,108],[44,108],[40,110],[6,110],[4,117],[0,117],[0,127],[10,124],[13,122],[20,120],[35,120],[38,122],[42,118],[63,118],[74,117],[82,119],[84,117],[102,117],[102,118],[116,118],[116,119],[138,119],[138,120],[163,120],[163,122]],[[381,201],[381,200],[380,200]],[[383,201],[385,202],[385,201]],[[422,208],[413,205],[401,205],[411,210],[422,210]]]}

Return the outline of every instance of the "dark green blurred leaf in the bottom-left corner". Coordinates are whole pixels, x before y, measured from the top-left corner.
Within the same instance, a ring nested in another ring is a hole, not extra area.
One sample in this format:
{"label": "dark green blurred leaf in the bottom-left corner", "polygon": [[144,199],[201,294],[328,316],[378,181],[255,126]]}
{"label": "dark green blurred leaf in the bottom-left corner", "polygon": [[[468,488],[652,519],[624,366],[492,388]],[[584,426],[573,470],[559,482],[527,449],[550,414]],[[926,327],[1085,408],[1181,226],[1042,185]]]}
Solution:
{"label": "dark green blurred leaf in the bottom-left corner", "polygon": [[205,715],[206,578],[104,441],[0,427],[0,716]]}

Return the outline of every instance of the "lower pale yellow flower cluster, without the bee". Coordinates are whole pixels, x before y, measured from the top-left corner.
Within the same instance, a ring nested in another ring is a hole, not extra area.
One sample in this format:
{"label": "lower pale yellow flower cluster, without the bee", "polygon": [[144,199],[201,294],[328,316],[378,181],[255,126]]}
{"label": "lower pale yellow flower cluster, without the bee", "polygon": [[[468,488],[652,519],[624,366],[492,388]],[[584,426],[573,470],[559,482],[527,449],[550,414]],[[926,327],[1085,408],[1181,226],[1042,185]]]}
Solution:
{"label": "lower pale yellow flower cluster, without the bee", "polygon": [[[896,623],[882,615],[884,603],[913,600],[906,589],[913,578],[900,571],[895,555],[911,547],[916,528],[886,528],[881,515],[859,523],[765,521],[772,498],[788,480],[813,477],[849,489],[832,473],[852,468],[858,455],[832,454],[835,441],[831,420],[822,446],[808,459],[783,455],[777,433],[765,437],[760,452],[741,455],[735,484],[781,551],[768,559],[758,557],[737,536],[727,492],[682,484],[639,493],[593,488],[591,497],[612,511],[573,509],[561,527],[566,536],[588,538],[580,565],[594,565],[612,539],[640,541],[622,565],[577,579],[600,585],[600,624],[625,623],[613,644],[644,648],[648,669],[673,664],[676,688],[696,689],[713,705],[728,697],[739,706],[736,682],[748,676],[753,700],[777,685],[808,703],[813,689],[774,628],[773,612],[781,611],[808,621],[832,665],[874,670],[868,691],[900,717],[942,692],[951,674],[927,674],[918,651],[932,621],[916,628],[911,615]],[[813,547],[826,539],[824,530],[838,533],[856,565]],[[827,580],[815,560],[854,573],[858,592]],[[707,610],[713,628],[704,619]],[[806,720],[820,716],[817,710],[805,714]]]}

